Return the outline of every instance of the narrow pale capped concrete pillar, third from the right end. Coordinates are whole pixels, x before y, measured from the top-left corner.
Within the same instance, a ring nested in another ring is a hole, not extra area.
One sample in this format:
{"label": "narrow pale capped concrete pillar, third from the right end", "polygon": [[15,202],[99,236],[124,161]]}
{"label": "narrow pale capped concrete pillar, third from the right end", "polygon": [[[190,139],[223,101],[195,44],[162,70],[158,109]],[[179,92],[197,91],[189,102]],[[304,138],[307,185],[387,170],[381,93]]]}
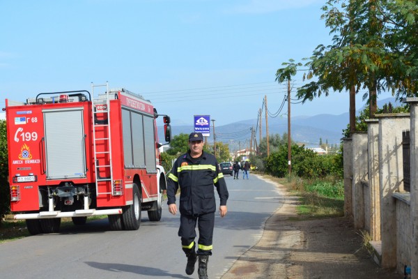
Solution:
{"label": "narrow pale capped concrete pillar, third from the right end", "polygon": [[366,218],[369,218],[372,240],[380,241],[379,121],[378,119],[368,119],[366,123],[370,191],[370,216],[366,216]]}

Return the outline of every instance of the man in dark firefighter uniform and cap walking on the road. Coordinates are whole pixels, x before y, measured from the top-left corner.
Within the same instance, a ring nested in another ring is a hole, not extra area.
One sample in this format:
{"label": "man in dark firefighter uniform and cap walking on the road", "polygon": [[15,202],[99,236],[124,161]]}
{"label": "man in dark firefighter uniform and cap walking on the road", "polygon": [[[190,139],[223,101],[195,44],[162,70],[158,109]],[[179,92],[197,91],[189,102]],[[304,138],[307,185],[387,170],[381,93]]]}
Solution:
{"label": "man in dark firefighter uniform and cap walking on the road", "polygon": [[[169,212],[177,213],[176,193],[180,187],[180,229],[183,251],[187,257],[186,273],[194,272],[199,257],[199,279],[208,279],[208,259],[212,255],[212,236],[215,224],[216,187],[220,199],[219,214],[226,215],[226,200],[229,193],[224,175],[212,154],[203,151],[203,135],[189,135],[189,151],[178,157],[167,179],[167,198]],[[196,243],[196,223],[199,228],[199,240]]]}

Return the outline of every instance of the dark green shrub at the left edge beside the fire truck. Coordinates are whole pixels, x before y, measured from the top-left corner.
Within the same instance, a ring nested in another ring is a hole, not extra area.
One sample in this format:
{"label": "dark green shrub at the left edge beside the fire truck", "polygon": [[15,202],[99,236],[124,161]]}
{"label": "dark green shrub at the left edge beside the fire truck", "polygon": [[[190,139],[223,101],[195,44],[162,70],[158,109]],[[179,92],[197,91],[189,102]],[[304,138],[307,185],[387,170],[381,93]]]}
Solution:
{"label": "dark green shrub at the left edge beside the fire truck", "polygon": [[0,120],[0,223],[10,211],[10,188],[8,184],[8,155],[6,121]]}

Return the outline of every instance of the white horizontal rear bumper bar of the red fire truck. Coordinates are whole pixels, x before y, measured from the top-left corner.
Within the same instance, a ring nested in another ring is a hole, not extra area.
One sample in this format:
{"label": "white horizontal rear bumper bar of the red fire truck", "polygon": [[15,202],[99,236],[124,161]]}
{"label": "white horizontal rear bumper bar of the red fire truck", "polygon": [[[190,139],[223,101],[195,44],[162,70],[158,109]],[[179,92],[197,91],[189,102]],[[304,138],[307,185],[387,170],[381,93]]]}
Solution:
{"label": "white horizontal rear bumper bar of the red fire truck", "polygon": [[40,213],[26,213],[15,215],[16,220],[24,219],[47,219],[47,218],[70,218],[70,217],[84,217],[84,216],[101,216],[101,215],[116,215],[122,214],[122,209],[80,209],[70,212],[61,211],[41,211]]}

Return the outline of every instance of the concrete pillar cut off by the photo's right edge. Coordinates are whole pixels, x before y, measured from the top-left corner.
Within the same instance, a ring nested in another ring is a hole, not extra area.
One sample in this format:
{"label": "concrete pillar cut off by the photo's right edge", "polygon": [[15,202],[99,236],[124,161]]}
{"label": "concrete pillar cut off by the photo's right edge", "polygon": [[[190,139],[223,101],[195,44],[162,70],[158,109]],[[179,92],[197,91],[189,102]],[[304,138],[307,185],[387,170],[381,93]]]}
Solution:
{"label": "concrete pillar cut off by the photo's right edge", "polygon": [[406,98],[410,103],[410,210],[412,220],[411,278],[418,278],[418,98]]}

